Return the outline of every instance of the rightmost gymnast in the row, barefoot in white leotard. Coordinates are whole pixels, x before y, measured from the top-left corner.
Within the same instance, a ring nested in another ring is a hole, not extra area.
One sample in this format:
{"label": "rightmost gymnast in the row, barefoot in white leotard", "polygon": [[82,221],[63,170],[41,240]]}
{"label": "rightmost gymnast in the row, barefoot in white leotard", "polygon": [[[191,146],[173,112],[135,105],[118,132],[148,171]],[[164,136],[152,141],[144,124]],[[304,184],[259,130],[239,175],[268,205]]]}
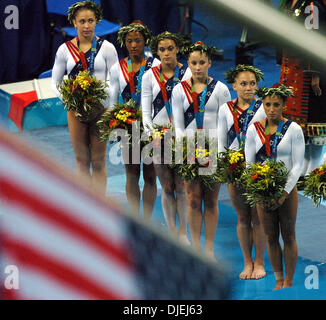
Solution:
{"label": "rightmost gymnast in the row, barefoot in white leotard", "polygon": [[[283,161],[290,172],[281,198],[276,202],[271,201],[269,206],[257,205],[276,279],[275,290],[292,286],[298,257],[295,238],[298,209],[296,183],[304,160],[305,141],[300,125],[283,117],[286,100],[291,94],[292,91],[284,85],[258,90],[258,95],[263,99],[266,118],[250,125],[245,143],[247,163],[275,159]],[[284,243],[283,253],[280,234]]]}

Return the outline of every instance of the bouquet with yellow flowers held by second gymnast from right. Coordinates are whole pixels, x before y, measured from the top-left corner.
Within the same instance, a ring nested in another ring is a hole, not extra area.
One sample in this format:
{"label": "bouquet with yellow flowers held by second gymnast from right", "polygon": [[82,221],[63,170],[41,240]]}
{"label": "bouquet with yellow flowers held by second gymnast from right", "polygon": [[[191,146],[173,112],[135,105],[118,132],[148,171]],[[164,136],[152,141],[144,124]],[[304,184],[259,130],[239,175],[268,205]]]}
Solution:
{"label": "bouquet with yellow flowers held by second gymnast from right", "polygon": [[245,168],[246,161],[243,149],[226,149],[219,154],[217,176],[220,183],[240,184],[240,178]]}

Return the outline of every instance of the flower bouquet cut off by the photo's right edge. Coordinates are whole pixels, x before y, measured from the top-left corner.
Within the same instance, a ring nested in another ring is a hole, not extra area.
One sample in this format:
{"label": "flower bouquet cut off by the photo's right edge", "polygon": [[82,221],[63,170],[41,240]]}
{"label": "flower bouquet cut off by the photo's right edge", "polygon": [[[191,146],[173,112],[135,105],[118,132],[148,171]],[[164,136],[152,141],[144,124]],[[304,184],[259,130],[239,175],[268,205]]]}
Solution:
{"label": "flower bouquet cut off by the photo's right edge", "polygon": [[311,171],[305,177],[304,195],[311,197],[315,207],[326,200],[326,164]]}

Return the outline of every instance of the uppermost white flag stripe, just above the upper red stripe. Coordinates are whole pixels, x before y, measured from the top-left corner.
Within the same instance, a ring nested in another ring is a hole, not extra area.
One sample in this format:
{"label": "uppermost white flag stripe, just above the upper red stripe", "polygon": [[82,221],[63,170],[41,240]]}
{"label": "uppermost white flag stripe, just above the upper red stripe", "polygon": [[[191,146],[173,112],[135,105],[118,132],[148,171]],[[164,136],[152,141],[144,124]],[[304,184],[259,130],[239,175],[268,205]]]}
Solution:
{"label": "uppermost white flag stripe, just above the upper red stripe", "polygon": [[59,177],[46,172],[28,159],[3,148],[0,144],[0,176],[6,176],[14,184],[20,185],[34,196],[63,210],[80,223],[89,225],[105,239],[112,243],[124,240],[123,219],[95,199],[73,185],[60,180]]}

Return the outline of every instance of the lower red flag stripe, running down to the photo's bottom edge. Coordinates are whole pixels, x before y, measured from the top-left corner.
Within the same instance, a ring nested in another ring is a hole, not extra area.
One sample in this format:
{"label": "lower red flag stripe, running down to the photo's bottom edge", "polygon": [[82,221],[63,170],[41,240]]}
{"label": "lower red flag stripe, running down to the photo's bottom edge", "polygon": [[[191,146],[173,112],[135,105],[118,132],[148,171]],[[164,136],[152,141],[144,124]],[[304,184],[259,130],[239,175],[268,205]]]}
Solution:
{"label": "lower red flag stripe, running down to the photo's bottom edge", "polygon": [[[93,283],[87,278],[87,275],[82,274],[76,269],[71,269],[69,266],[49,256],[41,254],[34,248],[14,240],[6,234],[1,235],[1,240],[5,248],[4,251],[9,251],[10,255],[15,256],[20,266],[27,266],[47,274],[47,276],[64,283],[66,286],[86,293],[90,298],[98,300],[122,300],[130,298],[123,297],[108,288]],[[99,280],[101,277],[105,277],[105,275],[99,275]],[[117,281],[119,280],[117,279]]]}

